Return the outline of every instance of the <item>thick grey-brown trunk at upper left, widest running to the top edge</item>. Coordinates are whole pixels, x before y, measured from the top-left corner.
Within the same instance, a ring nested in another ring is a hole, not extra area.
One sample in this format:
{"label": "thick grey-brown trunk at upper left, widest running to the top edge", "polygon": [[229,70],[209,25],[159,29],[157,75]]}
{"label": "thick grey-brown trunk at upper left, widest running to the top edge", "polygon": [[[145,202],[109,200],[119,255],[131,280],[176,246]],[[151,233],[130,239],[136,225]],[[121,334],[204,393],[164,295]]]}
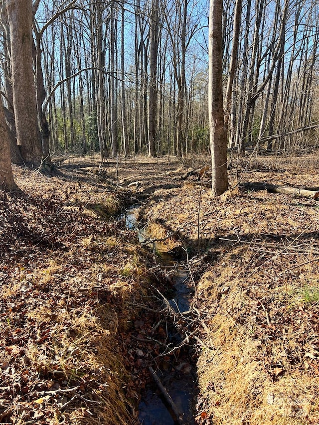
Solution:
{"label": "thick grey-brown trunk at upper left, widest running to the top edge", "polygon": [[17,144],[28,162],[42,157],[32,63],[32,0],[7,0]]}

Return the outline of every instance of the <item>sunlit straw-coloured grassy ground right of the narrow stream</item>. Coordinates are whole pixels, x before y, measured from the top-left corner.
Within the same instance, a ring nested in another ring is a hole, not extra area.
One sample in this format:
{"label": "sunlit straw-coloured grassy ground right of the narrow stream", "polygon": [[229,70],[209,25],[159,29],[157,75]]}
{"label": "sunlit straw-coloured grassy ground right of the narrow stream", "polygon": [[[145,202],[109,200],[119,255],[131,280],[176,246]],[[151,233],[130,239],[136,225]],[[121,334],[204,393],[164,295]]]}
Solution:
{"label": "sunlit straw-coloured grassy ground right of the narrow stream", "polygon": [[[241,164],[241,180],[318,187],[318,161],[258,158]],[[149,217],[196,247],[197,182],[160,195]],[[208,414],[216,425],[318,424],[317,203],[238,187],[209,195],[203,186],[199,233],[212,260],[197,282],[200,418],[204,423]]]}

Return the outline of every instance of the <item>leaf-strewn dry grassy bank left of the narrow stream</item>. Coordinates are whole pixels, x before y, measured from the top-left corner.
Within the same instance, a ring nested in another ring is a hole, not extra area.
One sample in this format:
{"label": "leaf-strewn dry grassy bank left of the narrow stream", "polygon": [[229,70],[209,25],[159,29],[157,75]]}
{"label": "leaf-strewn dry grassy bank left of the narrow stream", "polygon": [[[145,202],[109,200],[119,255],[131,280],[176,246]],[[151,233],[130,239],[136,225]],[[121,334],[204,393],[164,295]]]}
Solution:
{"label": "leaf-strewn dry grassy bank left of the narrow stream", "polygon": [[0,263],[0,421],[136,424],[139,394],[121,344],[148,275],[135,234],[109,220],[121,196],[78,168],[48,177],[15,167],[15,178],[29,196],[1,204],[25,234]]}

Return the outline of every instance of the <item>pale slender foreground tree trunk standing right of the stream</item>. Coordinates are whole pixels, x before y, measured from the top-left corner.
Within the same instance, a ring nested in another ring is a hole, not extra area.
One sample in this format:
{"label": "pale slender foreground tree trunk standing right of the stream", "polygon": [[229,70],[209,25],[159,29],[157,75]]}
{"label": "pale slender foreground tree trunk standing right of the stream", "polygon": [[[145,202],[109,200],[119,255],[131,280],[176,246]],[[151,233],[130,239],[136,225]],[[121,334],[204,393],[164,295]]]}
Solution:
{"label": "pale slender foreground tree trunk standing right of the stream", "polygon": [[212,161],[212,195],[228,189],[222,71],[223,0],[210,0],[208,44],[208,110]]}

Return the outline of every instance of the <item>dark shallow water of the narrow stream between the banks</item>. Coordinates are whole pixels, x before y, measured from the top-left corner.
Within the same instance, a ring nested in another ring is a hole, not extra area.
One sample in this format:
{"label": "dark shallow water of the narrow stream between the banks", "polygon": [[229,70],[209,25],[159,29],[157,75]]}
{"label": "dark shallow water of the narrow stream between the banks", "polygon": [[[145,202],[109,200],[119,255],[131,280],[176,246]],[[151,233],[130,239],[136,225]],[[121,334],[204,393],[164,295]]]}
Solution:
{"label": "dark shallow water of the narrow stream between the banks", "polygon": [[[140,242],[144,242],[148,238],[147,226],[142,226],[137,222],[136,209],[139,205],[135,205],[126,210],[124,216],[126,226],[129,229],[136,230]],[[151,247],[155,248],[155,247]],[[173,291],[167,299],[170,306],[177,313],[187,314],[191,302],[192,287],[189,282],[188,271],[184,265],[179,264],[169,254],[159,252],[160,246],[156,247],[156,251],[161,259],[161,267],[173,267],[176,269],[176,276],[173,278]],[[172,328],[170,330],[170,341],[172,346],[176,346],[181,342],[179,332]],[[169,363],[162,361],[161,364],[153,365],[156,374],[164,386],[165,391],[172,399],[177,411],[180,413],[179,418],[172,411],[166,398],[163,397],[159,386],[152,380],[142,394],[139,404],[139,420],[143,425],[175,425],[185,424],[194,425],[194,406],[196,404],[196,372],[194,366],[189,360],[192,355],[191,347],[183,347]]]}

